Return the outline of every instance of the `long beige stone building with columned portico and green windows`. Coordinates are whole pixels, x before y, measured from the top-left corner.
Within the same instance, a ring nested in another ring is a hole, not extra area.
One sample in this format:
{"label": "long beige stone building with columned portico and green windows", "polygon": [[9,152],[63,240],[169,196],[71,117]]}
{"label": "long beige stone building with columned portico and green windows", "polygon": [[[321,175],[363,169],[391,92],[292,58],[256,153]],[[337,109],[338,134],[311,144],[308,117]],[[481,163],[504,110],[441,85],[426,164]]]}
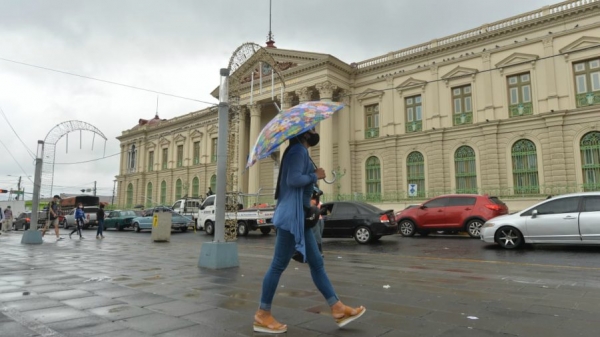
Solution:
{"label": "long beige stone building with columned portico and green windows", "polygon": [[[312,149],[340,173],[320,186],[330,198],[397,208],[488,193],[519,208],[600,190],[599,17],[600,1],[566,1],[352,64],[270,41],[232,74],[238,189],[275,185],[278,155],[244,170],[274,102],[334,100],[346,107],[319,125]],[[119,205],[204,195],[216,179],[216,123],[213,108],[123,131]]]}

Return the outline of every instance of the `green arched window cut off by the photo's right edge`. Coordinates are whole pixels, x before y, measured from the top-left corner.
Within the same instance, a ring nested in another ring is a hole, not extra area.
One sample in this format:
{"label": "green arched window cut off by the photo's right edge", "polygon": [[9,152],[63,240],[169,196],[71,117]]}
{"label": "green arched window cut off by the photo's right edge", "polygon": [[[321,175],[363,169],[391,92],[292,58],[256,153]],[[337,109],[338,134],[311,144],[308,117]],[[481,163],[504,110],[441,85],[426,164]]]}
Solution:
{"label": "green arched window cut off by the photo's right edge", "polygon": [[583,190],[600,190],[600,132],[593,131],[581,137],[581,169],[583,171]]}

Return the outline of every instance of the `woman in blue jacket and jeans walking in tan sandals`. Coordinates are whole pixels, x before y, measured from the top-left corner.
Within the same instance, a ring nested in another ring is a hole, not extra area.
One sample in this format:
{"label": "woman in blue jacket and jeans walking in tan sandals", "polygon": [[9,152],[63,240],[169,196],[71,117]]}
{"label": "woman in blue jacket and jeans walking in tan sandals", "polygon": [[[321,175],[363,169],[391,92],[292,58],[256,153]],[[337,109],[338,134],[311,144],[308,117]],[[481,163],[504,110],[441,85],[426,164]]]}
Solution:
{"label": "woman in blue jacket and jeans walking in tan sandals", "polygon": [[273,216],[273,224],[277,228],[275,252],[263,280],[259,309],[254,315],[256,332],[287,331],[287,325],[277,322],[271,314],[271,304],[281,274],[295,251],[300,252],[308,262],[313,283],[331,307],[331,314],[339,327],[354,321],[366,311],[362,306],[345,306],[339,300],[325,273],[313,232],[304,228],[304,210],[310,208],[314,184],[325,178],[325,171],[322,168],[315,169],[308,155],[308,148],[318,143],[319,134],[312,129],[290,139],[290,146],[283,155],[275,191],[275,199],[278,199]]}

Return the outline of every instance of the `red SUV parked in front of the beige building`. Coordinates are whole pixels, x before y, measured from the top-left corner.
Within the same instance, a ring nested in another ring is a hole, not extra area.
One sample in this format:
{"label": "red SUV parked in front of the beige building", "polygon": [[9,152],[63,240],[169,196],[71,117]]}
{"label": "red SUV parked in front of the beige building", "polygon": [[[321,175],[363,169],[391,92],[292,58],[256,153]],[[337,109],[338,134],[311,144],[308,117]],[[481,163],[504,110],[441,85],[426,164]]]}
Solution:
{"label": "red SUV parked in front of the beige building", "polygon": [[400,234],[428,235],[432,231],[466,231],[479,237],[483,224],[508,214],[508,207],[497,197],[478,194],[451,194],[435,197],[418,207],[402,211],[398,220]]}

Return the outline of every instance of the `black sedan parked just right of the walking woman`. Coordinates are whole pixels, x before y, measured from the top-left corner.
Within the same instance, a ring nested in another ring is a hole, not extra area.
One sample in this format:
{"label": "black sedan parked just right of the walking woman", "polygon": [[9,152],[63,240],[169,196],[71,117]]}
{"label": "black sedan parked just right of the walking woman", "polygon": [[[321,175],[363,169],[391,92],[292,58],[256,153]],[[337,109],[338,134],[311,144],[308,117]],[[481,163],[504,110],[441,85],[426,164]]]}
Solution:
{"label": "black sedan parked just right of the walking woman", "polygon": [[398,232],[393,210],[383,211],[364,202],[328,202],[321,205],[321,214],[325,221],[324,238],[354,237],[356,242],[365,244]]}

